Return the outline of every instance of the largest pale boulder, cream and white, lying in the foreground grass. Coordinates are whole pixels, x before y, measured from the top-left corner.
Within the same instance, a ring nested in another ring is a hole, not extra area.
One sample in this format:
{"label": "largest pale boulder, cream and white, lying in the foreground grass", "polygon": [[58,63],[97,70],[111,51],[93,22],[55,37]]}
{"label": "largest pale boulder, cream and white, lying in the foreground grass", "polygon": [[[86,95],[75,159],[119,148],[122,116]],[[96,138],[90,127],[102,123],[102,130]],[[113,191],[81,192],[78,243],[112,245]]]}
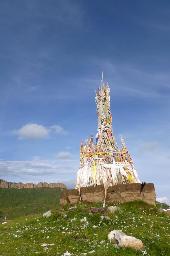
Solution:
{"label": "largest pale boulder, cream and white, lying in the foreground grass", "polygon": [[143,248],[143,243],[140,239],[137,239],[134,236],[126,236],[122,230],[111,231],[108,235],[108,239],[112,243],[117,243],[122,247],[131,247],[135,250],[140,250]]}

